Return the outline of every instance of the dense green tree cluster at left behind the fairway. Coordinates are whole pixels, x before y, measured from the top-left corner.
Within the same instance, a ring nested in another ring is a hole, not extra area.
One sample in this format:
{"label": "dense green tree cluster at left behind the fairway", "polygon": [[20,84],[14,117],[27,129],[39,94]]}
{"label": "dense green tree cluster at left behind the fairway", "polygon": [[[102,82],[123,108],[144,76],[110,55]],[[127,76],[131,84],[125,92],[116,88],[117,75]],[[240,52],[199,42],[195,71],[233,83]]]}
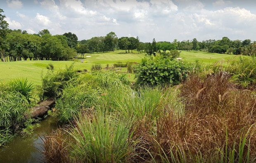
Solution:
{"label": "dense green tree cluster at left behind the fairway", "polygon": [[75,34],[51,35],[47,29],[38,34],[8,29],[0,9],[0,59],[2,61],[69,60],[76,56],[78,38]]}

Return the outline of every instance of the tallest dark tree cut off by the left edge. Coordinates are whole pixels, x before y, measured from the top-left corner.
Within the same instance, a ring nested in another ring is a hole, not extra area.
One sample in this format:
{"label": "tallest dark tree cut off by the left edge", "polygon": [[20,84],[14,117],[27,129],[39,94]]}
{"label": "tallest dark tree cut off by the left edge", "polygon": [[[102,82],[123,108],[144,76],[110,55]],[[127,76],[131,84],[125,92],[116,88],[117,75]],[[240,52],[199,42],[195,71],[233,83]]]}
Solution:
{"label": "tallest dark tree cut off by the left edge", "polygon": [[9,24],[4,20],[5,15],[1,14],[2,12],[4,11],[0,8],[0,57],[1,60],[5,62],[5,50],[8,47],[6,42],[6,35]]}

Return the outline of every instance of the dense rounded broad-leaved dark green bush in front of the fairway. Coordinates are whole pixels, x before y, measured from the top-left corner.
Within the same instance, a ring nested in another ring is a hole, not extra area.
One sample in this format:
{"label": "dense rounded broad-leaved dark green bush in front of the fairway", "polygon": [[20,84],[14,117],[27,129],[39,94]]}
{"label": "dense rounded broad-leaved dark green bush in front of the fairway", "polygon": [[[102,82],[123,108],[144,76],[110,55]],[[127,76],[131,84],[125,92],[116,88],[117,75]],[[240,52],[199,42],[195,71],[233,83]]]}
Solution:
{"label": "dense rounded broad-leaved dark green bush in front of the fairway", "polygon": [[184,61],[171,60],[156,56],[142,59],[135,68],[135,78],[138,85],[179,84],[187,78],[192,65]]}

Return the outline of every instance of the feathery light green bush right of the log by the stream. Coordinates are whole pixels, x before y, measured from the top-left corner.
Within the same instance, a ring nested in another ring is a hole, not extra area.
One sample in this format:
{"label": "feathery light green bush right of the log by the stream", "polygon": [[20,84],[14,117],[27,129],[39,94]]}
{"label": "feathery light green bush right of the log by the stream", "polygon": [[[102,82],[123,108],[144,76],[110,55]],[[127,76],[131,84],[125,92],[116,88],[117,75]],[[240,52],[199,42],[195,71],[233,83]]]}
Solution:
{"label": "feathery light green bush right of the log by the stream", "polygon": [[82,109],[95,106],[104,89],[114,89],[128,85],[125,74],[112,71],[81,74],[66,83],[62,96],[57,99],[55,108],[59,109],[59,120],[72,120]]}

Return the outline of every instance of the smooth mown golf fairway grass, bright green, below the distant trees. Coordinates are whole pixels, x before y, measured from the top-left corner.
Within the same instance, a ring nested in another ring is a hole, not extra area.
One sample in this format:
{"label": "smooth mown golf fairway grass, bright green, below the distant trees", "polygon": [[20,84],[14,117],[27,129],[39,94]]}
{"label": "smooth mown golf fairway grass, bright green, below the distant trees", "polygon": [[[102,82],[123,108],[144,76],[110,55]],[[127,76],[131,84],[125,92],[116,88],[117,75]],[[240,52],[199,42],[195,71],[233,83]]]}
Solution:
{"label": "smooth mown golf fairway grass, bright green, below the distant trees", "polygon": [[[91,57],[86,57],[91,56]],[[207,52],[187,52],[182,51],[180,57],[185,61],[199,60],[204,63],[213,63],[222,59],[232,59],[236,55],[230,54],[218,54],[218,53],[207,53]],[[80,57],[80,55],[78,56]],[[88,53],[84,55],[85,59],[78,58],[87,61],[87,63],[80,63],[79,61],[75,64],[75,69],[87,69],[90,71],[93,64],[102,64],[104,68],[107,64],[112,66],[114,63],[128,61],[140,62],[145,53],[138,54],[136,50],[133,53],[126,53],[125,50],[116,50],[114,52],[99,52],[99,53]],[[0,62],[0,82],[5,82],[16,78],[28,78],[28,81],[34,84],[41,84],[41,75],[45,74],[47,65],[52,63],[55,70],[64,69],[65,66],[69,66],[73,61],[15,61],[15,62]],[[121,72],[127,72],[127,68],[122,68]],[[133,81],[133,79],[129,79]]]}

